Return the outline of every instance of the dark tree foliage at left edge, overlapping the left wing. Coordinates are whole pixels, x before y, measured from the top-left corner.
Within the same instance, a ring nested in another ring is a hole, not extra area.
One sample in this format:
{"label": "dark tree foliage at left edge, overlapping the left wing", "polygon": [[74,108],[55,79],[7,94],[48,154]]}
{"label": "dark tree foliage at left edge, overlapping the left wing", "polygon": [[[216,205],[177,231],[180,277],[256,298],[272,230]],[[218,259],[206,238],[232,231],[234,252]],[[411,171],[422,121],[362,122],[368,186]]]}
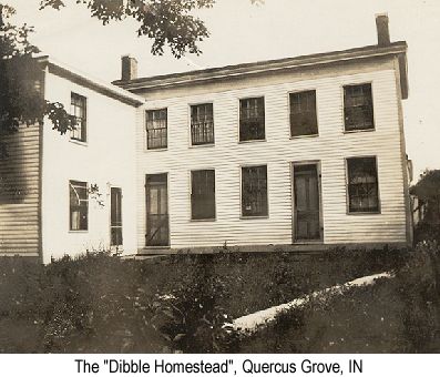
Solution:
{"label": "dark tree foliage at left edge, overlapping the left wing", "polygon": [[0,3],[0,159],[8,155],[4,137],[21,124],[41,123],[47,115],[61,134],[75,125],[61,103],[44,100],[39,49],[29,42],[33,28],[12,24],[14,12]]}

